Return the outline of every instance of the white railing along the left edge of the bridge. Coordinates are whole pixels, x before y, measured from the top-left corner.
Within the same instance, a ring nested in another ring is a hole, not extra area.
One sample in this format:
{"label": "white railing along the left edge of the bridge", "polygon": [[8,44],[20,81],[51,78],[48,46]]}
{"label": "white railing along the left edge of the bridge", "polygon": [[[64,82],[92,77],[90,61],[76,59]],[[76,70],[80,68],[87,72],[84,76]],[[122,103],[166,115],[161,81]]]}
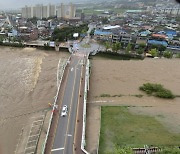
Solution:
{"label": "white railing along the left edge of the bridge", "polygon": [[[60,87],[61,87],[63,74],[64,74],[65,68],[66,68],[68,62],[70,61],[70,59],[71,59],[71,56],[68,58],[68,60],[66,61],[66,64],[62,68],[61,77],[59,77],[60,60],[59,60],[59,63],[58,63],[58,68],[57,68],[57,87],[58,88],[57,88],[57,93],[56,93],[56,96],[55,96],[55,101],[54,101],[54,104],[53,104],[53,111],[55,110],[55,107],[56,107],[56,104],[57,104],[57,99],[58,99],[58,94],[59,94],[59,90],[60,90]],[[44,144],[43,144],[43,147],[42,147],[42,154],[44,154],[45,149],[46,149],[46,144],[47,144],[47,140],[48,140],[48,136],[49,136],[49,132],[50,132],[50,128],[51,128],[51,123],[52,123],[52,120],[53,120],[53,115],[54,115],[54,112],[51,113],[51,116],[50,116],[50,119],[49,119],[48,130],[47,130],[46,138],[45,138],[45,141],[44,141]]]}

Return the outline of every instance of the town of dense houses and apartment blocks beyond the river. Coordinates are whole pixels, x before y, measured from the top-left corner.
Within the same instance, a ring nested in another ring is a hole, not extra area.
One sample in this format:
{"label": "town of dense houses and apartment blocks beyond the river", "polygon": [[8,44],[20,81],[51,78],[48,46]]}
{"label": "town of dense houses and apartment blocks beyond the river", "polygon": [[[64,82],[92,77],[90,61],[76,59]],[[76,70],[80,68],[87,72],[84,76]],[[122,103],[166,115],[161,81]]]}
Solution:
{"label": "town of dense houses and apartment blocks beyond the river", "polygon": [[[166,5],[162,1],[151,5],[139,1],[134,3],[137,6],[135,5],[133,9],[126,9],[121,13],[112,9],[97,10],[99,12],[96,14],[86,14],[83,10],[87,8],[75,6],[72,3],[68,5],[25,6],[19,13],[1,12],[0,38],[4,42],[20,43],[36,40],[55,41],[52,39],[55,29],[63,29],[72,25],[93,24],[94,29],[91,32],[91,37],[101,43],[119,42],[122,48],[131,44],[133,50],[137,50],[139,44],[144,43],[146,44],[145,52],[148,52],[148,48],[152,45],[164,46],[173,53],[180,52],[180,7],[174,6],[173,2]],[[104,4],[97,5],[103,8]],[[106,5],[111,6],[113,2]],[[117,4],[114,8],[121,9],[128,5],[131,6],[131,1],[121,5]],[[79,36],[83,35],[82,32]]]}

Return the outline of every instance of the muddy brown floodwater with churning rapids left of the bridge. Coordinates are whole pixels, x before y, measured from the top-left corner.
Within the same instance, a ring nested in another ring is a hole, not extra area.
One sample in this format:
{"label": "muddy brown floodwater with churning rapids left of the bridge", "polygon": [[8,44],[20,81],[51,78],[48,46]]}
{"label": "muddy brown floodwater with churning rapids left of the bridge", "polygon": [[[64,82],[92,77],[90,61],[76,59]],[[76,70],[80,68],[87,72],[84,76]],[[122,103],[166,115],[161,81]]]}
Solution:
{"label": "muddy brown floodwater with churning rapids left of the bridge", "polygon": [[0,47],[0,154],[15,153],[29,118],[56,94],[56,72],[67,52]]}

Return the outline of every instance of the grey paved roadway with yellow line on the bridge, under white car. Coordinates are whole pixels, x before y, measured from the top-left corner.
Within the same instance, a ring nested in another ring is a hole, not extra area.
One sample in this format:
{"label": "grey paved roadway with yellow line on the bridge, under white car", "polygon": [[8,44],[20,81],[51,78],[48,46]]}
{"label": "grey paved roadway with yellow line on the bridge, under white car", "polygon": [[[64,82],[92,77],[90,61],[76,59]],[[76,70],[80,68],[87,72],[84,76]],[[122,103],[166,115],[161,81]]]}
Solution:
{"label": "grey paved roadway with yellow line on the bridge, under white car", "polygon": [[71,58],[63,101],[60,108],[61,110],[63,105],[67,105],[68,115],[66,117],[61,117],[61,115],[59,115],[59,122],[56,129],[53,148],[51,150],[52,154],[74,153],[76,111],[80,96],[79,90],[81,86],[83,59],[83,53],[76,53]]}

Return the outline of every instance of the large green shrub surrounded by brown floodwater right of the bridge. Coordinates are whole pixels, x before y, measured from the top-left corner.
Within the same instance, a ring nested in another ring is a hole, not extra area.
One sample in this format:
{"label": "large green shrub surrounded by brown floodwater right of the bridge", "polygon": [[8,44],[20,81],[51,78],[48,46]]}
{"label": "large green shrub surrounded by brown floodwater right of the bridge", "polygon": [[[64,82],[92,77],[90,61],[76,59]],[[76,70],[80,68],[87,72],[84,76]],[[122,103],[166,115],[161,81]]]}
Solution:
{"label": "large green shrub surrounded by brown floodwater right of the bridge", "polygon": [[160,98],[173,99],[175,95],[168,89],[165,89],[161,84],[145,83],[139,87],[140,90],[146,92],[148,95],[153,95]]}

